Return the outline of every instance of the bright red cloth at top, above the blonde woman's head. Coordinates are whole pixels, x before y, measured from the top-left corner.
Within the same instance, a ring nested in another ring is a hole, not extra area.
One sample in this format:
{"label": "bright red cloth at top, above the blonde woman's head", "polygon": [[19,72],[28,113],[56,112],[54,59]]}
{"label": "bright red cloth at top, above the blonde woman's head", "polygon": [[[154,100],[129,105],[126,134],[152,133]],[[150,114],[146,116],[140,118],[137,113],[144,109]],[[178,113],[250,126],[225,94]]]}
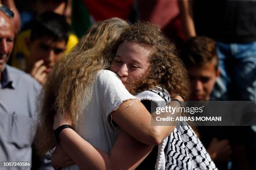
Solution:
{"label": "bright red cloth at top, above the blonde woman's head", "polygon": [[133,0],[83,0],[83,2],[95,21],[112,17],[127,20],[133,5]]}

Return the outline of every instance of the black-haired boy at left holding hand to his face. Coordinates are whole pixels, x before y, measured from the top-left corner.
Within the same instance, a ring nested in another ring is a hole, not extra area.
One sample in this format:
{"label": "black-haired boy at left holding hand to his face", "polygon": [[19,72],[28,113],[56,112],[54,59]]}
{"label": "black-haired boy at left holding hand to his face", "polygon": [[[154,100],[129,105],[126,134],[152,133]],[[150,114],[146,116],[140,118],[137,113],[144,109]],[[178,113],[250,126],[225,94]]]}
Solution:
{"label": "black-haired boy at left holding hand to his face", "polygon": [[46,12],[32,24],[31,36],[27,42],[30,51],[26,72],[42,85],[55,62],[67,48],[69,25],[64,16]]}

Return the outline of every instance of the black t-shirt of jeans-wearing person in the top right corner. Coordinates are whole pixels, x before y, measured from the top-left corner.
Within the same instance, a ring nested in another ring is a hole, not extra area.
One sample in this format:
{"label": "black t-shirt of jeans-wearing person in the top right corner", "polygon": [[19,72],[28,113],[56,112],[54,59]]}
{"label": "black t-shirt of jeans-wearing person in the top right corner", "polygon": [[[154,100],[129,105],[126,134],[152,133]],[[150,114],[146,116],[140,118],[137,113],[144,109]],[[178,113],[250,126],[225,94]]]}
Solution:
{"label": "black t-shirt of jeans-wearing person in the top right corner", "polygon": [[195,0],[193,13],[197,35],[226,43],[256,40],[255,0]]}

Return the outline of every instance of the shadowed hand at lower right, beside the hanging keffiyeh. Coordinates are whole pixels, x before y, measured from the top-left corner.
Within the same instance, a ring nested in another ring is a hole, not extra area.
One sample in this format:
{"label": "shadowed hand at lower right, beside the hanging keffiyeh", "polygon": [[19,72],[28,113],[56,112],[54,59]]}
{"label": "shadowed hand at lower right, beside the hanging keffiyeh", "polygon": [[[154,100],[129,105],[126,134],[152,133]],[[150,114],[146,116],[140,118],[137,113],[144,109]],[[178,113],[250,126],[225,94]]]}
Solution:
{"label": "shadowed hand at lower right, beside the hanging keffiyeh", "polygon": [[228,140],[218,140],[217,138],[213,138],[207,148],[207,152],[214,161],[227,161],[230,160],[232,150]]}

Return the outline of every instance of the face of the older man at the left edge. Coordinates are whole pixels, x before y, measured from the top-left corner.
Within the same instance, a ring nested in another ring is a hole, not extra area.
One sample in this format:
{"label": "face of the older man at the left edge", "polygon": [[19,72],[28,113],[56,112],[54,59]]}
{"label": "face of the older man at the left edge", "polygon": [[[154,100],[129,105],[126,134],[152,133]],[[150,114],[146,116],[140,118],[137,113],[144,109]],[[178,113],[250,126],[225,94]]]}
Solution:
{"label": "face of the older man at the left edge", "polygon": [[13,40],[13,23],[10,18],[0,12],[0,72],[5,69],[5,64],[12,53]]}

